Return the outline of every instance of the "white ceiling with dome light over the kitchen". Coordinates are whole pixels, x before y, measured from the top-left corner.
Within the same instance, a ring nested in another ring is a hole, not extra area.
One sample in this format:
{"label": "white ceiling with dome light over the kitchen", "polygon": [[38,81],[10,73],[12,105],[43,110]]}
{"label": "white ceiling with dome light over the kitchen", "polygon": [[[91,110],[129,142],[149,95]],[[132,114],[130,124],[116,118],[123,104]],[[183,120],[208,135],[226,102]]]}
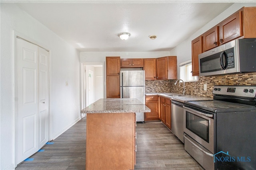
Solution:
{"label": "white ceiling with dome light over the kitchen", "polygon": [[[170,51],[237,0],[14,2],[19,2],[17,5],[22,10],[79,51]],[[120,32],[128,32],[131,36],[121,40]],[[149,35],[157,38],[151,40]]]}

